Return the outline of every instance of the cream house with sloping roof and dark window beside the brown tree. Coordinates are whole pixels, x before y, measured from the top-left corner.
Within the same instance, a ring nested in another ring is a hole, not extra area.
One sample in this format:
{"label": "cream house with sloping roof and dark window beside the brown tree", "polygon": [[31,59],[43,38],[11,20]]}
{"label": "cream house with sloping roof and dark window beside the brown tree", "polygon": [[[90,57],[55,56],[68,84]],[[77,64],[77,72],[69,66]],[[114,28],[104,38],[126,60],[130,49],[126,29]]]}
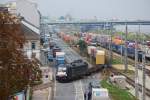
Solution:
{"label": "cream house with sloping roof and dark window beside the brown tree", "polygon": [[23,46],[24,54],[31,59],[35,56],[40,61],[40,34],[39,29],[26,20],[21,21],[21,27],[25,36],[25,44]]}

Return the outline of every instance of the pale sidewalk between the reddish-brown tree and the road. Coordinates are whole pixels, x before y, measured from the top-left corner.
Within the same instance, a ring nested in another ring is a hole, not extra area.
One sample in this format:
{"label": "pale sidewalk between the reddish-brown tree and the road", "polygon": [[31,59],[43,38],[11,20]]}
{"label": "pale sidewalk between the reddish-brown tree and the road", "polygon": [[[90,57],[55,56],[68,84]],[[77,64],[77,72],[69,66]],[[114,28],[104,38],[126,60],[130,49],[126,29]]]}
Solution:
{"label": "pale sidewalk between the reddish-brown tree and the road", "polygon": [[33,90],[32,100],[51,100],[52,87],[52,69],[48,66],[42,66],[43,84],[37,86],[38,89]]}

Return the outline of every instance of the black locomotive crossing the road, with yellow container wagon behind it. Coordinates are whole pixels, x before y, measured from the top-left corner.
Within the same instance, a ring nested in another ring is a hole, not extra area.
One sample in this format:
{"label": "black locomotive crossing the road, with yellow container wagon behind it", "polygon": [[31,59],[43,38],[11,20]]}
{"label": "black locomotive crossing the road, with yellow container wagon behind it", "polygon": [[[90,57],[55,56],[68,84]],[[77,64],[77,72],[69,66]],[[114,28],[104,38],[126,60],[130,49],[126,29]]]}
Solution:
{"label": "black locomotive crossing the road, with yellow container wagon behind it", "polygon": [[76,78],[80,78],[85,75],[90,75],[93,72],[103,69],[106,66],[104,51],[98,50],[95,56],[96,61],[94,66],[89,65],[86,61],[83,61],[82,59],[74,60],[71,63],[57,66],[56,80],[74,80]]}

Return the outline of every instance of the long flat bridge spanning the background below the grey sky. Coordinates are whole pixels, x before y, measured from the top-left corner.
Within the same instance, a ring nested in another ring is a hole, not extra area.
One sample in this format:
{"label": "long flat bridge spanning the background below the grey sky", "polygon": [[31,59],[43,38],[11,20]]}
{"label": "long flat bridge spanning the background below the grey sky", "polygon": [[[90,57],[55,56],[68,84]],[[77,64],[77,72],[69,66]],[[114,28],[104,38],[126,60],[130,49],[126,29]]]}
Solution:
{"label": "long flat bridge spanning the background below the grey sky", "polygon": [[97,21],[97,22],[50,22],[48,25],[94,25],[94,26],[114,26],[114,25],[150,25],[150,21]]}

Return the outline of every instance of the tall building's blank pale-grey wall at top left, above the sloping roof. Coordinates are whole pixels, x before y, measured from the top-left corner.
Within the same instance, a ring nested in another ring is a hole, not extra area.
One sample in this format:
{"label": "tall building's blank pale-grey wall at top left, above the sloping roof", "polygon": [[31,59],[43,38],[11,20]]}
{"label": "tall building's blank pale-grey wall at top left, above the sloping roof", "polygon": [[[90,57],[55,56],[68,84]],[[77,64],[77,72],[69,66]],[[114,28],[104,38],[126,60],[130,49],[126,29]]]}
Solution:
{"label": "tall building's blank pale-grey wall at top left, above the sloping roof", "polygon": [[29,0],[10,1],[6,4],[9,12],[22,16],[25,20],[36,27],[40,27],[40,13],[37,9],[37,4]]}

